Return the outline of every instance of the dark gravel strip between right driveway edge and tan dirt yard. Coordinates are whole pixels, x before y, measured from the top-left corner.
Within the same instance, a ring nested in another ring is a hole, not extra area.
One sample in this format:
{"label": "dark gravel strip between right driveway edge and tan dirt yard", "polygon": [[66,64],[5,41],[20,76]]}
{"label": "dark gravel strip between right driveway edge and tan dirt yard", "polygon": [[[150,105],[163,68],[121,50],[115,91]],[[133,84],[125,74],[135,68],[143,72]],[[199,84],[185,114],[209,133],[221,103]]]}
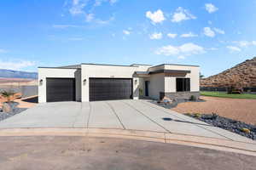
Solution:
{"label": "dark gravel strip between right driveway edge and tan dirt yard", "polygon": [[216,114],[185,114],[194,117],[203,122],[207,122],[214,127],[224,128],[232,133],[238,133],[249,139],[256,140],[256,126],[247,124],[245,122],[236,121]]}

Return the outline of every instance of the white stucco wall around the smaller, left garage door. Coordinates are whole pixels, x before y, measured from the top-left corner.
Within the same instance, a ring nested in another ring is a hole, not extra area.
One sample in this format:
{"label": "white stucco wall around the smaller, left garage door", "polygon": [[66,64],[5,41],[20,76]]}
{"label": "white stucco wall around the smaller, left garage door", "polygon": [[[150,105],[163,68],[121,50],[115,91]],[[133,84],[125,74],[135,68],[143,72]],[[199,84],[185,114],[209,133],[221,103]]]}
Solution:
{"label": "white stucco wall around the smaller, left garage door", "polygon": [[[46,77],[74,78],[76,71],[77,69],[38,68],[38,102],[46,102]],[[40,80],[43,80],[42,85],[39,83]],[[76,91],[76,94],[81,92]]]}

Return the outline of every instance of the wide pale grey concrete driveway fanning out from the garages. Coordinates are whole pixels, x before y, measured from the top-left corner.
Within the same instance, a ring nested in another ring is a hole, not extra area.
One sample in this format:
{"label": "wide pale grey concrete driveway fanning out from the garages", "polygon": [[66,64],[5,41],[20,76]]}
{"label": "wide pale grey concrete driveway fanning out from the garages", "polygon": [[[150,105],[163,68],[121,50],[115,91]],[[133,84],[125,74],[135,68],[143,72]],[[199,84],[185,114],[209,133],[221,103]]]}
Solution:
{"label": "wide pale grey concrete driveway fanning out from the garages", "polygon": [[[166,121],[165,118],[171,119]],[[253,141],[175,111],[166,110],[149,100],[38,104],[0,122],[0,128],[15,127],[111,128],[188,134],[241,142]]]}

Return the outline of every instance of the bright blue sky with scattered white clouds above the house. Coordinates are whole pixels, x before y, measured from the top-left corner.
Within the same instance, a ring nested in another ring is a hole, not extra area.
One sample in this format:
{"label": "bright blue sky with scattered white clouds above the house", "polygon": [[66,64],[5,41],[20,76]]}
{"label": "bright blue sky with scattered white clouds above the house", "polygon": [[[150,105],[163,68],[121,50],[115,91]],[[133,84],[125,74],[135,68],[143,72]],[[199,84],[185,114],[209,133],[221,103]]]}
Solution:
{"label": "bright blue sky with scattered white clouds above the house", "polygon": [[256,55],[255,0],[2,0],[0,68],[101,63],[201,65]]}

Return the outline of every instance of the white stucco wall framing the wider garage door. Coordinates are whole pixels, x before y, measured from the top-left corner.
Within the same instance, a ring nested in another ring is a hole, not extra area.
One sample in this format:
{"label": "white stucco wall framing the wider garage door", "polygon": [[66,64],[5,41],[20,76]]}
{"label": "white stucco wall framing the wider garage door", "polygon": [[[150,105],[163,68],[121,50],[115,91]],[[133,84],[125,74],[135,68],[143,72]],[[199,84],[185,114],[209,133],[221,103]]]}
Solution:
{"label": "white stucco wall framing the wider garage door", "polygon": [[[145,71],[145,67],[121,65],[81,65],[82,101],[89,101],[90,77],[99,78],[133,78],[133,99],[139,96],[139,78],[134,77],[135,71]],[[86,80],[84,84],[84,79]],[[137,80],[137,83],[136,83]]]}

